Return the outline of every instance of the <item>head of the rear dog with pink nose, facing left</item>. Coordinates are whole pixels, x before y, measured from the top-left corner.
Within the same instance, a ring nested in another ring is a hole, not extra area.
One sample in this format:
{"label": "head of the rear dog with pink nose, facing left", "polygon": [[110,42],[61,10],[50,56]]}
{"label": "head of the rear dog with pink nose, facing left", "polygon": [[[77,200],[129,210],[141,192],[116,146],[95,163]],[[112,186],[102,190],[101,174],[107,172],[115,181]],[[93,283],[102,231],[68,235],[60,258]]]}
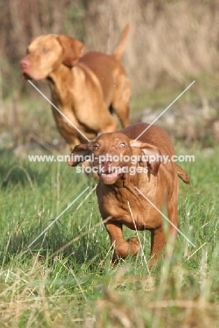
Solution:
{"label": "head of the rear dog with pink nose, facing left", "polygon": [[27,56],[20,60],[23,80],[41,80],[60,64],[73,67],[84,54],[84,44],[65,35],[48,34],[32,39],[27,47]]}

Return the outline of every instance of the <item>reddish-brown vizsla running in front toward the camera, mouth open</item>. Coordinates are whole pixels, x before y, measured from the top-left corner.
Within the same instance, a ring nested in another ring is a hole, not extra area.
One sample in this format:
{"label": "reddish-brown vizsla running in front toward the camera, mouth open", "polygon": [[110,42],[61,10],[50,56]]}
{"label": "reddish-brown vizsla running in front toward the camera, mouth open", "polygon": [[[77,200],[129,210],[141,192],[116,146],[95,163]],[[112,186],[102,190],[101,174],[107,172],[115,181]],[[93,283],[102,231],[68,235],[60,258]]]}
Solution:
{"label": "reddish-brown vizsla running in front toward the camera, mouth open", "polygon": [[[93,168],[100,176],[98,205],[102,219],[110,217],[105,226],[114,258],[138,254],[138,238],[124,240],[124,224],[132,230],[151,232],[152,267],[165,245],[159,211],[166,206],[168,219],[178,226],[178,177],[187,184],[190,178],[173,161],[175,151],[166,131],[152,125],[137,139],[148,126],[136,123],[119,132],[104,133],[95,142],[79,144],[69,156],[68,165],[76,166],[84,156],[93,154]],[[169,224],[168,237],[175,238],[174,226]]]}

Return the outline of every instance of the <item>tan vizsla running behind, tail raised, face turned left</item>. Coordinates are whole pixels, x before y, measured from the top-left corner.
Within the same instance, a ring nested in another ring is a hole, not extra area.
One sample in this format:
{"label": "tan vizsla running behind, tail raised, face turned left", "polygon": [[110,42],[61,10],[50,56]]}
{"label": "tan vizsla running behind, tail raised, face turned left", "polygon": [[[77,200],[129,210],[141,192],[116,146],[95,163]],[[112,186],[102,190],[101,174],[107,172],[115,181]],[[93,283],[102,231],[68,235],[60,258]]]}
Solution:
{"label": "tan vizsla running behind, tail raised, face turned left", "polygon": [[[126,127],[130,85],[121,57],[126,48],[129,25],[112,55],[89,52],[84,44],[69,36],[48,34],[34,38],[27,47],[27,56],[20,61],[23,79],[46,78],[52,92],[56,125],[71,149],[98,133],[117,130],[119,116]],[[82,133],[80,133],[82,132]]]}

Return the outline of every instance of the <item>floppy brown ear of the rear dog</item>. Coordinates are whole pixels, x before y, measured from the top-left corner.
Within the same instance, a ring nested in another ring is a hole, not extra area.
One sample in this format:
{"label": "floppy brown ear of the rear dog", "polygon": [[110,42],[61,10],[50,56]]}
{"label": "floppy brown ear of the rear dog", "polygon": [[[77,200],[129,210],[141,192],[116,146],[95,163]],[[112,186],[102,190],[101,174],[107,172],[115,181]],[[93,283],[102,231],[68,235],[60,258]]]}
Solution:
{"label": "floppy brown ear of the rear dog", "polygon": [[73,67],[84,54],[84,43],[64,34],[59,35],[57,39],[63,49],[62,64],[65,64],[67,67]]}

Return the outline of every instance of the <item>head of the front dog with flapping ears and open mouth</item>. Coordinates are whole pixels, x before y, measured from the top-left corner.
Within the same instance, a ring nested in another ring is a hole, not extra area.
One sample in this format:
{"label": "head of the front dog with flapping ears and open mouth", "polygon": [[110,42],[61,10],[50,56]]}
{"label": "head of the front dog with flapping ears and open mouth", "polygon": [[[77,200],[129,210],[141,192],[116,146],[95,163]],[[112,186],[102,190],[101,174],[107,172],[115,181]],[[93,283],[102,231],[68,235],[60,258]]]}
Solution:
{"label": "head of the front dog with flapping ears and open mouth", "polygon": [[129,139],[120,132],[112,132],[103,133],[95,142],[75,146],[67,163],[76,166],[91,158],[102,182],[114,184],[126,174],[133,175],[133,168],[136,172],[139,166],[146,167],[149,174],[157,176],[160,156],[157,146]]}

